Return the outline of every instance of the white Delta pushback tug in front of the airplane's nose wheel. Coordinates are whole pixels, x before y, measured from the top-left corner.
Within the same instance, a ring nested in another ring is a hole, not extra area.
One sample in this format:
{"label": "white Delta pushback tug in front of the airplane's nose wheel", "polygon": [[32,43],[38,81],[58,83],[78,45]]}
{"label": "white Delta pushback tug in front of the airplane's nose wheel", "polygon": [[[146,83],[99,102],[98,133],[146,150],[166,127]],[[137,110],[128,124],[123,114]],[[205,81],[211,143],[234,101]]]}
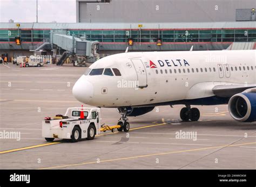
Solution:
{"label": "white Delta pushback tug in front of the airplane's nose wheel", "polygon": [[72,142],[80,138],[92,140],[99,132],[100,108],[71,107],[64,116],[45,117],[42,122],[42,136],[46,141],[53,141],[54,138],[70,139]]}

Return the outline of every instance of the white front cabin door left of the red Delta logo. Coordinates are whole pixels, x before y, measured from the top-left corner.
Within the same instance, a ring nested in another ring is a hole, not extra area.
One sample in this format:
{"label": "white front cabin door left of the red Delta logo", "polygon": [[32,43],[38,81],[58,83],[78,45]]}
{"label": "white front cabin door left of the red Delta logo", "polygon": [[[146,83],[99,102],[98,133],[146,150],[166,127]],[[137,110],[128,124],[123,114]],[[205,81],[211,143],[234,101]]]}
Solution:
{"label": "white front cabin door left of the red Delta logo", "polygon": [[139,84],[138,87],[139,88],[147,87],[147,73],[142,60],[131,59],[131,61],[138,76],[138,84]]}

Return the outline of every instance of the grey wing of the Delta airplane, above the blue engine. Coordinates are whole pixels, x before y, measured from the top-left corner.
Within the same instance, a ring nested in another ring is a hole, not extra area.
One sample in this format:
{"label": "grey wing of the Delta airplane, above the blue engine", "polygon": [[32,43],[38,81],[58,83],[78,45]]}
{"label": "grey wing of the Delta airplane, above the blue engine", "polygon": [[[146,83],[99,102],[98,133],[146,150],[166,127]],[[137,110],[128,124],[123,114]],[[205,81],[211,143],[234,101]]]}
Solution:
{"label": "grey wing of the Delta airplane, above the blue engine", "polygon": [[221,98],[230,98],[231,96],[244,92],[246,89],[256,88],[256,84],[248,85],[219,85],[212,88],[212,92]]}

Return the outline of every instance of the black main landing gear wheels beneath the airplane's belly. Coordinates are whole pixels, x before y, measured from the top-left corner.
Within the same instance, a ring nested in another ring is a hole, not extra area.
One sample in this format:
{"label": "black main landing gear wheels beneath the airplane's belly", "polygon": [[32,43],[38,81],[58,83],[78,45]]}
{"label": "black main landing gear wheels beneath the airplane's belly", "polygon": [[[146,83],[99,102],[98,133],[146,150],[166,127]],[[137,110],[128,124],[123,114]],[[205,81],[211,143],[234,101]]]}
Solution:
{"label": "black main landing gear wheels beneath the airplane's belly", "polygon": [[190,105],[180,110],[180,118],[183,121],[198,121],[200,118],[200,111],[198,108],[191,108]]}

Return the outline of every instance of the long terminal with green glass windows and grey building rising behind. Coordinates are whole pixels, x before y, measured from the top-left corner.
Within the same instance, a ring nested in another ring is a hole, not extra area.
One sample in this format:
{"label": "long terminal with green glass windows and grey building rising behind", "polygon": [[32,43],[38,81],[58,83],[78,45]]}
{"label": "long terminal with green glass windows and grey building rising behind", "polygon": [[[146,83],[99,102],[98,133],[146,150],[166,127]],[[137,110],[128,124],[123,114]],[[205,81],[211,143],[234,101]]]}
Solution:
{"label": "long terminal with green glass windows and grey building rising behind", "polygon": [[[76,8],[77,23],[0,23],[1,53],[32,54],[44,43],[53,45],[53,33],[99,41],[101,56],[127,46],[130,51],[224,50],[250,42],[256,49],[251,0],[77,0]],[[49,46],[41,50],[51,53]]]}

